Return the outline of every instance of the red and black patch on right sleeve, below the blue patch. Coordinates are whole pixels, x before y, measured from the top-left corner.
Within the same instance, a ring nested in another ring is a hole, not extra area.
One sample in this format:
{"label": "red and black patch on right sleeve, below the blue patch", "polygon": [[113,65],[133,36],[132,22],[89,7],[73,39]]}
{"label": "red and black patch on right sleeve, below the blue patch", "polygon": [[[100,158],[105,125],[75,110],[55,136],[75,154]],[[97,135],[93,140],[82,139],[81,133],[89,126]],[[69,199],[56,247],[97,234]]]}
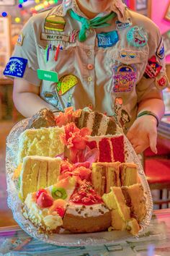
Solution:
{"label": "red and black patch on right sleeve, below the blue patch", "polygon": [[148,64],[146,66],[146,71],[143,74],[146,78],[157,77],[158,73],[161,71],[161,65],[156,61],[156,56],[152,56],[151,59],[148,59]]}

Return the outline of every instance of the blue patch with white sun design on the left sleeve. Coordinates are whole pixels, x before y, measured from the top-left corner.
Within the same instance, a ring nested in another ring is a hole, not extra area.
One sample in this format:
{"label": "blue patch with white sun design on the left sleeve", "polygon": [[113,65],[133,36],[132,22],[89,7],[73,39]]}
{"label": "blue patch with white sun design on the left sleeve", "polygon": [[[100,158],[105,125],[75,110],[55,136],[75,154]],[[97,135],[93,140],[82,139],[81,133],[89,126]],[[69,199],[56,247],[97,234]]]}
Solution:
{"label": "blue patch with white sun design on the left sleeve", "polygon": [[11,57],[4,69],[4,75],[9,75],[10,77],[23,77],[26,66],[27,59]]}

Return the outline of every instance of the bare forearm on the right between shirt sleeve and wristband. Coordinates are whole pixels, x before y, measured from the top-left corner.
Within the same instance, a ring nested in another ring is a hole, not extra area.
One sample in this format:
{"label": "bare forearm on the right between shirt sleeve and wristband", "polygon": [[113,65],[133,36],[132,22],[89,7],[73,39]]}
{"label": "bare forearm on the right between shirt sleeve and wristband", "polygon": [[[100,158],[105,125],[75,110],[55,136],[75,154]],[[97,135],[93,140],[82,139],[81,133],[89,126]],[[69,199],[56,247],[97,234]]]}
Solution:
{"label": "bare forearm on the right between shirt sleeve and wristband", "polygon": [[156,116],[158,116],[158,119],[161,120],[165,111],[164,101],[161,98],[148,98],[140,101],[138,104],[138,114],[146,110],[152,111]]}

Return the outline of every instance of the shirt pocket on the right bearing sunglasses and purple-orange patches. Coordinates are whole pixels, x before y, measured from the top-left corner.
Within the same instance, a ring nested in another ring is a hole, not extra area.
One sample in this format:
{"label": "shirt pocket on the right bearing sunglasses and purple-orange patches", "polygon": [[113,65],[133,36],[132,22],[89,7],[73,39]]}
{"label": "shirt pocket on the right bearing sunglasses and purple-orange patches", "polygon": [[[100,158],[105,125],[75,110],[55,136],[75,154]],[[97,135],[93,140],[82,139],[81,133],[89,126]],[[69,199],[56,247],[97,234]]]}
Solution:
{"label": "shirt pocket on the right bearing sunglasses and purple-orange patches", "polygon": [[110,51],[112,69],[112,93],[132,91],[143,77],[148,61],[148,51],[136,51],[127,48]]}

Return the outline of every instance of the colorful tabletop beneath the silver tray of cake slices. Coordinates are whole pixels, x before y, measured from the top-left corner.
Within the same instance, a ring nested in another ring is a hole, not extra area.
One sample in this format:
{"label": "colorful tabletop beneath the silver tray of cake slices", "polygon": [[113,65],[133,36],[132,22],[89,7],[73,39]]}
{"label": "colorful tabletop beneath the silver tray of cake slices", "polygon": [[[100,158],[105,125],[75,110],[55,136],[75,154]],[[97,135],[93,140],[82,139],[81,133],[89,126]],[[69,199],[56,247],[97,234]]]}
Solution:
{"label": "colorful tabletop beneath the silver tray of cake slices", "polygon": [[169,256],[170,209],[153,211],[150,226],[138,238],[130,236],[128,239],[107,245],[91,247],[61,247],[46,244],[32,238],[19,226],[3,227],[0,228],[0,255]]}

